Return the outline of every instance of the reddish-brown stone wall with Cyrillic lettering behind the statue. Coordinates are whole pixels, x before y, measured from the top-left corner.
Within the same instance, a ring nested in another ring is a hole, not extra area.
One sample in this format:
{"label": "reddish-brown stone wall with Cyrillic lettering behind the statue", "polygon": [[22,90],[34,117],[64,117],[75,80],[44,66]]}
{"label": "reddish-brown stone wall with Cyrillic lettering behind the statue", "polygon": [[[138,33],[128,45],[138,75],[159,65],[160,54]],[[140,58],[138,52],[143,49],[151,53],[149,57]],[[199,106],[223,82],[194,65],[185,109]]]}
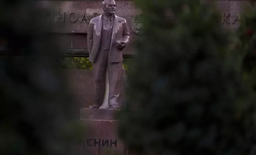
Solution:
{"label": "reddish-brown stone wall with Cyrillic lettering behind the statue", "polygon": [[[62,25],[62,29],[56,29],[54,37],[60,41],[63,48],[81,50],[85,49],[85,52],[87,52],[87,25],[91,18],[102,13],[102,2],[102,0],[70,0],[51,2],[55,3],[56,5],[56,12],[55,14],[52,13],[54,15],[53,22],[55,22],[57,27],[61,27],[60,25]],[[214,3],[216,4],[219,13],[223,16],[222,19],[219,19],[219,24],[223,25],[224,28],[231,29],[237,28],[239,26],[239,19],[243,10],[242,8],[244,6],[252,5],[251,1],[249,0],[217,0]],[[132,34],[132,40],[134,40],[134,38],[138,36],[133,33],[130,23],[132,17],[140,11],[136,9],[133,5],[133,2],[129,0],[116,0],[116,5],[116,15],[124,17],[127,20],[130,32]],[[59,23],[57,23],[58,11],[60,17]],[[64,19],[61,18],[64,13],[65,23]],[[85,14],[87,17],[85,17]],[[131,53],[132,49],[130,47],[124,51],[124,54],[130,55]],[[72,92],[74,93],[80,107],[86,108],[93,104],[93,100],[95,98],[95,90],[92,70],[65,70],[65,73],[70,79]]]}

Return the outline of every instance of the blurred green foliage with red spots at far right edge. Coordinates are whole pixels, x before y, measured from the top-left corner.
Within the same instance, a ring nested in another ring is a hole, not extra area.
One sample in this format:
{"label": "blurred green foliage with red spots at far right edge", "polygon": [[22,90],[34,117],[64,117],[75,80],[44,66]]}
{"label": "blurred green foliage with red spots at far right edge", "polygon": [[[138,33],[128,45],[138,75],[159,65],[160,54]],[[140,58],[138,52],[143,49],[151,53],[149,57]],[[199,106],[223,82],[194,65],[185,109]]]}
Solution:
{"label": "blurred green foliage with red spots at far right edge", "polygon": [[242,55],[244,78],[250,82],[256,92],[256,10],[250,7],[243,9],[240,26],[236,31],[237,42],[235,53]]}

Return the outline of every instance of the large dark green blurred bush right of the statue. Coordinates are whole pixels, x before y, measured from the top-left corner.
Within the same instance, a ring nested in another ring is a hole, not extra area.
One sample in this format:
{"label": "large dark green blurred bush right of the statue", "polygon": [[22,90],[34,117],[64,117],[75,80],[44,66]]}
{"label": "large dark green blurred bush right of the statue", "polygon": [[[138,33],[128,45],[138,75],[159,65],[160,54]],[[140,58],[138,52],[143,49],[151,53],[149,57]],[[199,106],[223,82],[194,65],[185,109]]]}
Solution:
{"label": "large dark green blurred bush right of the statue", "polygon": [[140,0],[137,5],[144,36],[136,41],[138,54],[118,114],[129,153],[252,153],[255,94],[243,78],[244,57],[233,47],[239,41],[221,27],[213,4]]}

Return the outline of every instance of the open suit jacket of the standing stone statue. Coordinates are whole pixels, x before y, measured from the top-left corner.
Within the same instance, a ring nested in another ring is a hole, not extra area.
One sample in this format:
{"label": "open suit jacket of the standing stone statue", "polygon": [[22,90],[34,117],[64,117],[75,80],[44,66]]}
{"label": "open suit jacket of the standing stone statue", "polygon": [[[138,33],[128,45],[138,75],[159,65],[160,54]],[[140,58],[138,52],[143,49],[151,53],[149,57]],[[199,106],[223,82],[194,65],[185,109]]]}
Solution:
{"label": "open suit jacket of the standing stone statue", "polygon": [[[89,50],[89,61],[95,63],[97,60],[97,53],[99,51],[101,43],[101,31],[102,31],[102,18],[103,15],[91,19],[88,32],[87,32],[87,42]],[[122,17],[114,15],[113,32],[111,38],[111,47],[109,52],[109,62],[122,62],[122,50],[119,50],[116,45],[117,40],[123,40],[128,42],[129,40],[129,30],[126,20]]]}

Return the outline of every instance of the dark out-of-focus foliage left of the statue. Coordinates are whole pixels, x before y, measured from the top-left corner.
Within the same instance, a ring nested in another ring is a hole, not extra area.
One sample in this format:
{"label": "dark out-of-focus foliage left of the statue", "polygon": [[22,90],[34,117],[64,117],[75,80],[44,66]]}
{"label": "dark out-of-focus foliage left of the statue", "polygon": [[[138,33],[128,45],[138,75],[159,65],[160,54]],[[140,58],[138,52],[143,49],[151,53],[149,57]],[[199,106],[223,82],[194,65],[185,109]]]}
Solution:
{"label": "dark out-of-focus foliage left of the statue", "polygon": [[[0,155],[74,155],[80,125],[62,75],[45,9],[33,0],[0,1]],[[31,18],[24,15],[28,13]]]}

